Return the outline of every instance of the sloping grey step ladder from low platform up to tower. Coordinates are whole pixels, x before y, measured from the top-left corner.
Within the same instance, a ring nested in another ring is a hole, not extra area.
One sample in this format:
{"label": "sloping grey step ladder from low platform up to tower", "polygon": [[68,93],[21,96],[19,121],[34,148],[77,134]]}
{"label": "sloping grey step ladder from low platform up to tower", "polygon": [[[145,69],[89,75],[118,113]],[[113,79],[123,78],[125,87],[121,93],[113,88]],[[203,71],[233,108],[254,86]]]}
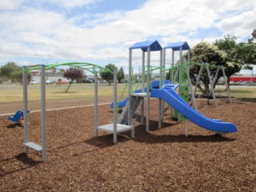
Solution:
{"label": "sloping grey step ladder from low platform up to tower", "polygon": [[[133,118],[135,111],[138,109],[138,106],[140,106],[143,99],[144,99],[143,97],[131,95],[128,102],[126,102],[126,106],[125,106],[124,110],[122,110],[122,114],[118,118],[118,123],[123,124],[123,125],[128,125],[129,105],[130,105],[130,118]],[[138,115],[136,115],[136,116],[138,116]],[[136,121],[136,119],[135,119],[135,121]]]}

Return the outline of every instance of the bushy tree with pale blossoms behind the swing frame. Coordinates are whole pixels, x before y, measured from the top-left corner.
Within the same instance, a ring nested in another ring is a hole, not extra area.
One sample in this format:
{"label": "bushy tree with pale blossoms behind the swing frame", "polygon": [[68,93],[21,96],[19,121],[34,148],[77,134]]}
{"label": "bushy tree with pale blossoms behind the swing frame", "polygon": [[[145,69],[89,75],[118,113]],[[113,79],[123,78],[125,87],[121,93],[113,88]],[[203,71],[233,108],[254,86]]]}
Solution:
{"label": "bushy tree with pale blossoms behind the swing frame", "polygon": [[[224,66],[226,63],[226,54],[218,50],[217,46],[210,45],[208,42],[200,42],[191,50],[191,62],[203,62],[215,66]],[[198,74],[199,68],[200,66],[197,65],[190,67],[190,78],[194,85],[198,78],[194,74]],[[204,87],[198,84],[198,89],[205,96],[210,96],[210,81],[213,80],[216,70],[216,68],[210,68],[210,77],[212,79],[209,79],[206,69],[202,70],[200,81]],[[217,78],[220,78],[220,74]]]}

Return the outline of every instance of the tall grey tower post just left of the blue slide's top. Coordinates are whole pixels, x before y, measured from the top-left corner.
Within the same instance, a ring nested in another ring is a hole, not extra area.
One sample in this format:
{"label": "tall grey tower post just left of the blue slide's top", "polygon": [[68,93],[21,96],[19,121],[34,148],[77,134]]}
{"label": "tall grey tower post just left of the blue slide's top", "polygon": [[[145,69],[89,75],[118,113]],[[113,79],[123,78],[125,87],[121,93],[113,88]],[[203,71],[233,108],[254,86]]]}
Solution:
{"label": "tall grey tower post just left of the blue slide's top", "polygon": [[150,46],[147,47],[146,70],[146,131],[150,130]]}

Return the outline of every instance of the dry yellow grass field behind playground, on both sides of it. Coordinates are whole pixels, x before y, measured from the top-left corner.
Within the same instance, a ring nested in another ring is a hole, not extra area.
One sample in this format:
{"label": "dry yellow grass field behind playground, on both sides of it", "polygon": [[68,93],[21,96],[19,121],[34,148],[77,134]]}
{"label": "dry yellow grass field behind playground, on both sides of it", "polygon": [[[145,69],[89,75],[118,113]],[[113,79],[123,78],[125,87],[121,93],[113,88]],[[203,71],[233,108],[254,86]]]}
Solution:
{"label": "dry yellow grass field behind playground, on both sides of it", "polygon": [[[122,91],[126,84],[118,84],[118,100],[122,95]],[[66,99],[66,98],[94,98],[94,84],[74,84],[70,86],[68,93],[65,93],[67,85],[57,86],[57,85],[47,85],[46,86],[46,99]],[[134,90],[137,85],[134,85]],[[4,102],[22,102],[23,94],[21,85],[15,86],[1,86],[0,85],[0,103]],[[126,89],[122,98],[126,98],[128,90]],[[30,85],[28,86],[28,99],[29,101],[39,101],[40,95],[40,85]],[[219,88],[216,86],[215,89],[216,96],[227,96],[227,92],[224,88]],[[234,98],[244,98],[249,100],[256,98],[256,88],[245,88],[245,87],[232,87],[230,86],[231,97]],[[106,84],[98,84],[98,97],[113,98],[113,85],[108,86]]]}

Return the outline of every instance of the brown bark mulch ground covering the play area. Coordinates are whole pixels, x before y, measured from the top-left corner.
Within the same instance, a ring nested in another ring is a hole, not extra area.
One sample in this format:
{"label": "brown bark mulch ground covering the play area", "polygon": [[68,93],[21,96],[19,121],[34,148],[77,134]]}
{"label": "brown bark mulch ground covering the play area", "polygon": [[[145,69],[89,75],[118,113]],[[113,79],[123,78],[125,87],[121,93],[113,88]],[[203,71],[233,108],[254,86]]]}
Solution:
{"label": "brown bark mulch ground covering the play area", "polygon": [[[135,127],[94,138],[94,107],[47,111],[47,160],[23,153],[23,128],[0,117],[0,191],[255,191],[256,105],[198,101],[209,118],[233,122],[238,132],[224,137],[189,122],[170,120],[158,129],[158,100],[150,101],[150,131]],[[99,106],[99,125],[113,111]],[[30,140],[40,143],[40,113],[29,114]]]}

